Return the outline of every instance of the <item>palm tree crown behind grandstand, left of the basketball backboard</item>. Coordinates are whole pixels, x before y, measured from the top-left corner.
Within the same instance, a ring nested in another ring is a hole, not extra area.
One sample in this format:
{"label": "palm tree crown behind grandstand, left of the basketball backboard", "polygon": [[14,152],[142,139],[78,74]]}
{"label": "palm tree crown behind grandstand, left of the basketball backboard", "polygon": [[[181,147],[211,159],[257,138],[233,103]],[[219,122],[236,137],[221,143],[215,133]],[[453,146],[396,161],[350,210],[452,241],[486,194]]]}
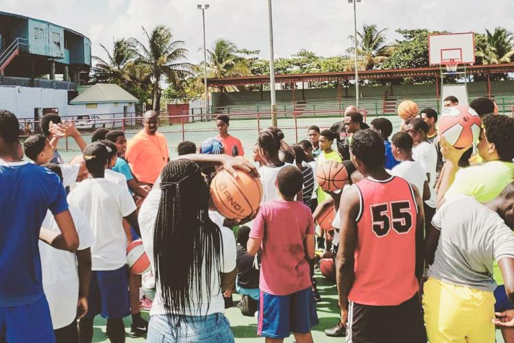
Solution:
{"label": "palm tree crown behind grandstand, left of the basketball backboard", "polygon": [[[376,25],[363,25],[362,32],[357,32],[357,56],[360,57],[359,69],[374,69],[387,60],[389,47],[385,44],[387,29],[377,29]],[[349,36],[355,45],[355,37]],[[347,54],[354,54],[355,47],[347,49]]]}

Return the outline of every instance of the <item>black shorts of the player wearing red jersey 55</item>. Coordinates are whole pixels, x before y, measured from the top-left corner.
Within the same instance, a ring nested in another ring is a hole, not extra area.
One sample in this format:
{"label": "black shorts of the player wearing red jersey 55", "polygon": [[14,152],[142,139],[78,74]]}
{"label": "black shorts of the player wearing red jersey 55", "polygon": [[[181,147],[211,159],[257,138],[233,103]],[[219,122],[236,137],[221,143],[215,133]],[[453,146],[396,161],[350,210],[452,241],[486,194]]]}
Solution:
{"label": "black shorts of the player wearing red jersey 55", "polygon": [[360,305],[350,301],[348,343],[426,343],[417,294],[397,306]]}

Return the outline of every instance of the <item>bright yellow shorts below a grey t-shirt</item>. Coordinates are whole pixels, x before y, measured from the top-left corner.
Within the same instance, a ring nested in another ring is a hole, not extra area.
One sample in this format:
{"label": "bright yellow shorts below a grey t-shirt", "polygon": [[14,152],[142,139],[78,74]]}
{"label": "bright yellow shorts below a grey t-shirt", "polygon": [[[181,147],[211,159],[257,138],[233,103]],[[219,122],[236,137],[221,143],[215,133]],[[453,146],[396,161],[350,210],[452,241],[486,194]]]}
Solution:
{"label": "bright yellow shorts below a grey t-shirt", "polygon": [[494,294],[429,278],[423,308],[430,343],[494,343]]}

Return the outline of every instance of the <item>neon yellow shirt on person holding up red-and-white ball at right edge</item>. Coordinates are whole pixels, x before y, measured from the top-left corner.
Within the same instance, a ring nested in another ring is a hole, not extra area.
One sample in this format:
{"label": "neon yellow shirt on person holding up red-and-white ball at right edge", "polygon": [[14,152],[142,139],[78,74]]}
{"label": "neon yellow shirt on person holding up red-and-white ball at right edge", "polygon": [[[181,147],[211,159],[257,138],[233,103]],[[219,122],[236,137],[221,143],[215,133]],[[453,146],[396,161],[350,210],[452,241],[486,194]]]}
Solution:
{"label": "neon yellow shirt on person holding up red-and-white ball at right edge", "polygon": [[[483,165],[474,165],[459,170],[455,181],[445,193],[448,200],[452,196],[463,194],[473,196],[478,202],[489,202],[502,193],[506,185],[514,179],[514,163],[489,161]],[[498,263],[494,263],[494,280],[503,285],[503,276]]]}

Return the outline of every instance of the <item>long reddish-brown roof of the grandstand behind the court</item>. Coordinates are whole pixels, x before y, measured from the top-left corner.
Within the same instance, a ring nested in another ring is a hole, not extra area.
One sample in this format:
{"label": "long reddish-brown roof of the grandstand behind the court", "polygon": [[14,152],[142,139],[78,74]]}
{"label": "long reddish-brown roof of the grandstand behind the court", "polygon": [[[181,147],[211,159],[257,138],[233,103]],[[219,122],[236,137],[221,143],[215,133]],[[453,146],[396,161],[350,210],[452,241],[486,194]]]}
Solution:
{"label": "long reddish-brown roof of the grandstand behind the court", "polygon": [[[514,63],[504,64],[475,64],[466,67],[468,74],[495,74],[514,72]],[[382,80],[395,78],[437,78],[441,75],[439,67],[424,67],[415,69],[385,69],[364,70],[358,72],[360,80]],[[322,82],[322,81],[346,81],[354,80],[354,71],[342,71],[336,73],[308,73],[293,75],[275,75],[276,83],[293,82]],[[250,84],[269,84],[269,75],[241,76],[238,78],[208,78],[208,86],[245,86]]]}

